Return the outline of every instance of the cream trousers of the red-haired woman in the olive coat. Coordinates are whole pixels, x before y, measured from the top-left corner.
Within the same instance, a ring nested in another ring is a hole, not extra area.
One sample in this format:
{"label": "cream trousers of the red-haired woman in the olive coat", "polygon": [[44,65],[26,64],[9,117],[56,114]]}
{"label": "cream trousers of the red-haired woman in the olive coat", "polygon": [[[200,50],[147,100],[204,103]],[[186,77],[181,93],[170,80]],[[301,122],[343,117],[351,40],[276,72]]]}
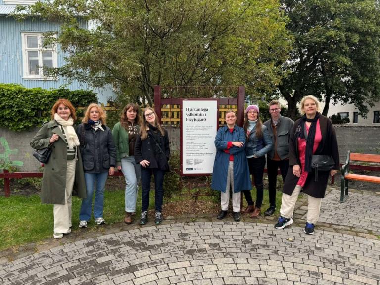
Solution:
{"label": "cream trousers of the red-haired woman in the olive coat", "polygon": [[71,227],[71,197],[75,179],[76,161],[67,161],[65,204],[54,204],[54,233],[67,233]]}

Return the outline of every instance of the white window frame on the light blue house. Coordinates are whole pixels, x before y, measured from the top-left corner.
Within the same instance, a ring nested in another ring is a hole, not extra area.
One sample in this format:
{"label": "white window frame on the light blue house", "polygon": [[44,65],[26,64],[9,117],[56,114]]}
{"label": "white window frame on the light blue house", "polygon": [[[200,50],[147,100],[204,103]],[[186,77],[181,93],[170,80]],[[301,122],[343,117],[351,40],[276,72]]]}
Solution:
{"label": "white window frame on the light blue house", "polygon": [[[28,48],[27,37],[38,37],[38,47],[37,48]],[[23,62],[23,79],[32,79],[32,80],[58,80],[57,78],[51,78],[44,76],[43,67],[42,67],[42,52],[51,51],[52,52],[52,65],[53,67],[58,67],[58,54],[56,50],[56,45],[52,45],[52,48],[45,48],[42,45],[42,38],[44,33],[32,33],[32,32],[22,32],[22,62]],[[29,74],[28,66],[28,51],[37,51],[38,52],[38,63],[39,63],[39,74]]]}

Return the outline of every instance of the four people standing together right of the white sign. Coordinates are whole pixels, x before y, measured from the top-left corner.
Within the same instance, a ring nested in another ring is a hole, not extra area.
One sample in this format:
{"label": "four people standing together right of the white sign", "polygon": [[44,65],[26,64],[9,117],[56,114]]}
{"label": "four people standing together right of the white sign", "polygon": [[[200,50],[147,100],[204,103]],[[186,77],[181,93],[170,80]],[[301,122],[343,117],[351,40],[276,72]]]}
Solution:
{"label": "four people standing together right of the white sign", "polygon": [[[245,110],[243,128],[236,125],[235,111],[225,112],[226,126],[220,128],[215,138],[215,156],[211,188],[221,192],[221,211],[218,219],[227,216],[230,190],[232,192],[233,217],[240,221],[241,192],[247,207],[241,210],[258,218],[261,213],[264,187],[264,167],[267,164],[269,208],[265,216],[276,211],[276,183],[280,169],[284,181],[280,217],[275,225],[283,229],[293,223],[293,210],[301,191],[308,195],[308,212],[304,232],[314,233],[319,218],[321,200],[325,196],[329,175],[339,170],[339,152],[332,122],[319,113],[319,101],[314,96],[305,96],[299,105],[302,115],[295,123],[280,115],[278,101],[269,103],[271,119],[262,124],[257,105]],[[265,160],[265,155],[267,159]],[[335,165],[330,171],[312,171],[312,156],[327,155]],[[256,203],[251,196],[251,180],[256,187]]]}

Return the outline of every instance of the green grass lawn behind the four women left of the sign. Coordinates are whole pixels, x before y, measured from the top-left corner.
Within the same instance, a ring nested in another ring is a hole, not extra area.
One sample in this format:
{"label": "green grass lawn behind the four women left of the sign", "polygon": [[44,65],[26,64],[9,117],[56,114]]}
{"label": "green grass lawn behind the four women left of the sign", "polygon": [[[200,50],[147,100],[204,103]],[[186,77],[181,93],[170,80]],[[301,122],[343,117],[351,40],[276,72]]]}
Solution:
{"label": "green grass lawn behind the four women left of the sign", "polygon": [[[137,215],[141,212],[141,190],[137,201]],[[151,199],[154,201],[154,191]],[[81,199],[73,197],[73,230],[78,229]],[[151,200],[152,201],[152,200]],[[154,207],[154,202],[150,203]],[[0,197],[1,227],[0,250],[28,242],[39,242],[53,236],[53,205],[41,204],[39,195]],[[107,224],[121,222],[124,219],[124,190],[105,191],[104,219]],[[137,216],[138,217],[138,216]],[[94,217],[88,224],[96,227]]]}

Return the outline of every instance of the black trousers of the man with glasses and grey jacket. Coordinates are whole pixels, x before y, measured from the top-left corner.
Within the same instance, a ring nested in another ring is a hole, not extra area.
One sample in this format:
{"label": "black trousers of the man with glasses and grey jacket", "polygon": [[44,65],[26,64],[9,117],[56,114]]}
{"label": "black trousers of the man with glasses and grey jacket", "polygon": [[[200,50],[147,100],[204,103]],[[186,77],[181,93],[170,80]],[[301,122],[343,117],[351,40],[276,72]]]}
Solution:
{"label": "black trousers of the man with glasses and grey jacket", "polygon": [[269,204],[272,207],[276,207],[277,169],[279,168],[283,181],[285,181],[287,170],[289,169],[289,160],[277,161],[267,158]]}

